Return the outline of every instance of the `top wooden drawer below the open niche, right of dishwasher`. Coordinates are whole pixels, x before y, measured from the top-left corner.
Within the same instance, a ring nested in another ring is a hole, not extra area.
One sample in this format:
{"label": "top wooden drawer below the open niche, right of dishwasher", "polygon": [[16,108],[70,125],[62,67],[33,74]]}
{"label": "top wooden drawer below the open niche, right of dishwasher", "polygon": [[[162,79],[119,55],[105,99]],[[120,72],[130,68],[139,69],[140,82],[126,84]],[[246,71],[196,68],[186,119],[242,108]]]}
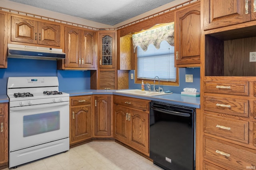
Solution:
{"label": "top wooden drawer below the open niche, right of dishwasher", "polygon": [[204,81],[204,92],[248,96],[248,81]]}

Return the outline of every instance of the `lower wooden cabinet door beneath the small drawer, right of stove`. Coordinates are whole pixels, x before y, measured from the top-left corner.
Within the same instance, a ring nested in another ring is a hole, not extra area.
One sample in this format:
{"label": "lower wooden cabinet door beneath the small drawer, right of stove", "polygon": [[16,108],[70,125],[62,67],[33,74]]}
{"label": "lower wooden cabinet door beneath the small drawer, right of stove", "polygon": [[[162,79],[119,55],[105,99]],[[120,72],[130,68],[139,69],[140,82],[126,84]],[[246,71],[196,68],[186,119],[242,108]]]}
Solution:
{"label": "lower wooden cabinet door beneath the small drawer, right of stove", "polygon": [[71,137],[70,143],[90,138],[91,128],[91,106],[73,107],[71,109]]}

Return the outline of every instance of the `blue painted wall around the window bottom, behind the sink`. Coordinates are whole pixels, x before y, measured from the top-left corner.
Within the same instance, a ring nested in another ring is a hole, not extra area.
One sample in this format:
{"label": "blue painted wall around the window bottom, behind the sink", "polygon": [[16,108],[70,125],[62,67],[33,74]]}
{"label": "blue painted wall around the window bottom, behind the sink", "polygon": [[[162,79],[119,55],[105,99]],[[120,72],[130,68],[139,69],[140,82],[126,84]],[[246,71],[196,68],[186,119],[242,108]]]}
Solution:
{"label": "blue painted wall around the window bottom, behind the sink", "polygon": [[[131,80],[130,75],[131,73],[134,74],[134,70],[129,71],[129,88],[131,89],[140,89],[141,84],[134,84],[134,80]],[[200,68],[179,68],[179,74],[180,74],[180,85],[179,86],[160,86],[164,88],[164,91],[170,90],[173,93],[178,93],[183,92],[184,88],[196,88],[197,92],[200,92]],[[185,74],[193,74],[193,82],[188,83],[185,82]],[[135,74],[134,74],[135,76]],[[144,81],[146,82],[146,81]],[[156,88],[158,88],[158,82],[156,82]],[[151,88],[153,89],[153,85],[151,84]],[[146,88],[145,85],[145,89]]]}

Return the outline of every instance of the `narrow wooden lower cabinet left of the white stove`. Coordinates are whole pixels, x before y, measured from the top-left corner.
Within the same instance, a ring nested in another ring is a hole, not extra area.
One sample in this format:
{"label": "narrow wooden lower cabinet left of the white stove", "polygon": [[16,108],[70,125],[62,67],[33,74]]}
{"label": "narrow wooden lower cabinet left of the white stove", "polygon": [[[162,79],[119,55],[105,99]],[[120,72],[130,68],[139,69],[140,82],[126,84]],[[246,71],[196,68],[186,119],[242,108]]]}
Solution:
{"label": "narrow wooden lower cabinet left of the white stove", "polygon": [[8,103],[0,104],[0,169],[8,167]]}

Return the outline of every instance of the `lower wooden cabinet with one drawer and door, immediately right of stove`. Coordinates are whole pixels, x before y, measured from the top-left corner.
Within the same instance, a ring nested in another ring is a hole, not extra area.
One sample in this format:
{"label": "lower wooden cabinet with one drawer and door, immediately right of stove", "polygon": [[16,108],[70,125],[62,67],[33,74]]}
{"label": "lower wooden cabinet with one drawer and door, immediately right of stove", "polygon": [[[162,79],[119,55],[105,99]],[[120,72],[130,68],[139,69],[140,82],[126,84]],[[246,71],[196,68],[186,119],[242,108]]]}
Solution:
{"label": "lower wooden cabinet with one drawer and door, immediately right of stove", "polygon": [[70,145],[92,138],[91,96],[70,97]]}

